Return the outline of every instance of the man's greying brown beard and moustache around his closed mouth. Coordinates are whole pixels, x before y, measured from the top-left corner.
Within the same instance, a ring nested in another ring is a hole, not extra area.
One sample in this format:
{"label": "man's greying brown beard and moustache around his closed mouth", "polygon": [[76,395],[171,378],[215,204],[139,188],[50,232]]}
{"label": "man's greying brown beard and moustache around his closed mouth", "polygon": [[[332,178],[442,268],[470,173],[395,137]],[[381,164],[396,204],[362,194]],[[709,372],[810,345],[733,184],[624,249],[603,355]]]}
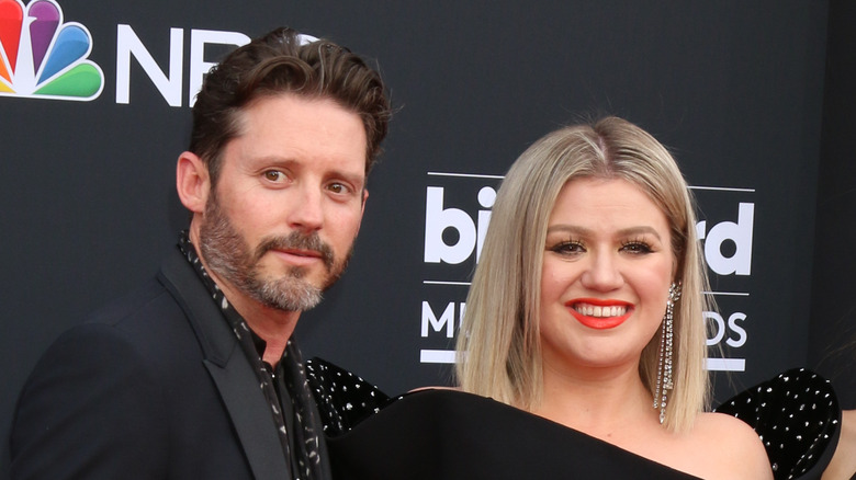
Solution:
{"label": "man's greying brown beard and moustache around his closed mouth", "polygon": [[[322,293],[341,276],[351,251],[336,262],[333,249],[317,232],[303,235],[295,230],[284,237],[262,238],[255,251],[244,240],[213,196],[205,205],[205,219],[200,227],[200,254],[217,276],[260,304],[285,311],[308,310],[322,300]],[[306,268],[291,266],[279,278],[262,278],[259,261],[272,249],[300,249],[320,253],[327,276],[318,287],[306,281]]]}

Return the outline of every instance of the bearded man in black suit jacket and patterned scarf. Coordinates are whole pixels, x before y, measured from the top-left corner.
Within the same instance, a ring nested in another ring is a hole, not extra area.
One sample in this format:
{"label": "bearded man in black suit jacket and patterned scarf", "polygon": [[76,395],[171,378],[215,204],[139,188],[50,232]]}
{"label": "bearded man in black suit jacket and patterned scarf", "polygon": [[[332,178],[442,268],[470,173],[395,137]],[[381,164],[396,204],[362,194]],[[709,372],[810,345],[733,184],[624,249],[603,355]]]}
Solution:
{"label": "bearded man in black suit jacket and patterned scarf", "polygon": [[386,135],[379,75],[277,30],[205,79],[157,278],[61,335],[18,403],[13,478],[318,479],[291,334],[341,274]]}

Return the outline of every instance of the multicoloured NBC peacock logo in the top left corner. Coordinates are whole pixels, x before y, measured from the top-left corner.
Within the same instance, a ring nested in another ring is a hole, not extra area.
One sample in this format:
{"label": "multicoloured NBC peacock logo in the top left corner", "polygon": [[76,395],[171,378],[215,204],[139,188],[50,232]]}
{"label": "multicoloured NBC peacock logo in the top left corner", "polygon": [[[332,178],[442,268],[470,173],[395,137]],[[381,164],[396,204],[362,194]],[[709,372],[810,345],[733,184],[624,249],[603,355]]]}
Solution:
{"label": "multicoloured NBC peacock logo in the top left corner", "polygon": [[104,72],[87,59],[92,36],[77,22],[63,22],[54,0],[0,0],[0,95],[91,101],[104,88]]}

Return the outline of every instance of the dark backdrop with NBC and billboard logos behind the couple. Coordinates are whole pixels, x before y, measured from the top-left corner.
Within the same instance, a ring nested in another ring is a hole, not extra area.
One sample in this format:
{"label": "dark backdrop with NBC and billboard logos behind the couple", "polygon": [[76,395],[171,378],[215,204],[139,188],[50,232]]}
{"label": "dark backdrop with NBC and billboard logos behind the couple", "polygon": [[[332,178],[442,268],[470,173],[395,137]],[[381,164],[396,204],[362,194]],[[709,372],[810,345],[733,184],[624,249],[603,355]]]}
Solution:
{"label": "dark backdrop with NBC and billboard logos behind the couple", "polygon": [[2,445],[47,344],[153,276],[187,225],[174,164],[205,71],[279,25],[376,61],[396,106],[351,266],[301,319],[306,356],[390,393],[450,382],[504,173],[547,132],[615,114],[672,149],[699,201],[717,398],[808,365],[829,13],[787,0],[0,0]]}

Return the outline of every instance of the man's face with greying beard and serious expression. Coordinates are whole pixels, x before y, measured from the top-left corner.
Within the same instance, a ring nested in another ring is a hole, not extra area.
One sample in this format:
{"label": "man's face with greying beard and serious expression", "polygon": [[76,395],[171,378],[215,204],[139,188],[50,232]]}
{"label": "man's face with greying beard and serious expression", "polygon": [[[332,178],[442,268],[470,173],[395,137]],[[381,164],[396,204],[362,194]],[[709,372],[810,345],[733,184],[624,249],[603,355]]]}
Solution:
{"label": "man's face with greying beard and serious expression", "polygon": [[345,270],[360,228],[365,130],[330,100],[262,98],[223,150],[200,226],[219,282],[268,307],[302,311]]}

